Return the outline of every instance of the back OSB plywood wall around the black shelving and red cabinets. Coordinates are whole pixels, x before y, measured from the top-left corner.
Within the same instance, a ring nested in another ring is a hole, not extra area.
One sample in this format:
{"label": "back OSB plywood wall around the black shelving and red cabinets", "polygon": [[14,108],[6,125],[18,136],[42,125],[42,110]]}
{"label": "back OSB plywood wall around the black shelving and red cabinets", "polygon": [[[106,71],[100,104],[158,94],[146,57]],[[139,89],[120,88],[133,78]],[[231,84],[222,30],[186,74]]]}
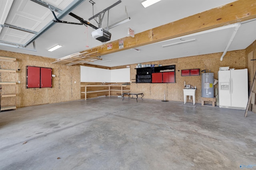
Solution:
{"label": "back OSB plywood wall around the black shelving and red cabinets", "polygon": [[[214,73],[214,78],[218,79],[218,70],[222,66],[230,66],[230,68],[243,69],[246,68],[245,50],[231,51],[226,53],[223,61],[220,61],[222,53],[214,53],[208,55],[198,55],[194,57],[184,57],[177,59],[162,60],[142,64],[162,64],[176,65],[176,83],[132,83],[130,86],[131,92],[142,92],[144,98],[163,100],[164,90],[166,91],[166,100],[184,101],[183,88],[184,81],[186,84],[196,86],[196,103],[200,102],[201,97],[201,72],[200,76],[181,76],[181,70],[200,68],[201,70],[208,70]],[[136,78],[136,64],[130,66],[131,81],[134,82]],[[215,85],[217,88],[217,85]],[[192,102],[187,97],[187,102]]]}

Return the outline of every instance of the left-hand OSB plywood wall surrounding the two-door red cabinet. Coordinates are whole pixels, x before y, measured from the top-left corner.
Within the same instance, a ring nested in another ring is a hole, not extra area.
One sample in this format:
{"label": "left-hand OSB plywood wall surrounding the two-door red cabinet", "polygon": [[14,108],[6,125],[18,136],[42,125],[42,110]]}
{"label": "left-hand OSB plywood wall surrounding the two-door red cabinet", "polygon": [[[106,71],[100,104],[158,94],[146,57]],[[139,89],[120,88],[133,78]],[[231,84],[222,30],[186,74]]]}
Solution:
{"label": "left-hand OSB plywood wall surrounding the two-door red cabinet", "polygon": [[[80,66],[51,64],[55,59],[9,51],[0,51],[0,56],[17,59],[16,68],[10,68],[17,70],[15,81],[20,81],[20,84],[16,84],[17,107],[80,99]],[[2,69],[7,69],[3,68],[3,64],[2,62],[0,64]],[[52,88],[26,88],[26,66],[52,68],[52,74],[56,75],[56,77],[52,77]],[[5,90],[3,87],[2,93],[5,93]]]}

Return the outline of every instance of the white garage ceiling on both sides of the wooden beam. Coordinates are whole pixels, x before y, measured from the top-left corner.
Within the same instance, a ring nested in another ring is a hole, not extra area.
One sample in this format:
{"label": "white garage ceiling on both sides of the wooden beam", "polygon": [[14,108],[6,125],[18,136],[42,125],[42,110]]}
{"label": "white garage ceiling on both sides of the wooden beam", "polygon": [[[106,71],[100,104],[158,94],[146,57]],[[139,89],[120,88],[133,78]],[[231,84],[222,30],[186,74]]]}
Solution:
{"label": "white garage ceiling on both sides of the wooden beam", "polygon": [[[44,0],[44,2],[62,11],[66,11],[77,1],[78,0]],[[93,1],[96,2],[96,4],[94,4],[94,14],[97,14],[118,0]],[[2,20],[4,19],[3,7],[5,4],[8,4],[8,2],[10,3],[12,0],[2,0],[0,2],[0,17],[2,15],[2,18],[0,18],[0,24],[10,24],[40,32],[45,25],[52,23],[52,20],[54,19],[51,11],[44,6],[40,6],[31,0],[14,0],[6,20],[4,23],[2,23]],[[128,36],[128,27],[132,27],[135,30],[135,34],[140,33],[172,21],[234,2],[234,0],[161,0],[148,8],[144,8],[141,5],[141,2],[142,0],[122,0],[120,4],[110,9],[109,25],[127,17],[125,8],[127,9],[128,16],[131,18],[131,20],[110,29],[109,32],[112,33],[112,37],[108,42]],[[88,18],[93,16],[92,4],[89,2],[89,0],[85,0],[77,8],[72,10],[72,13],[80,16],[86,21],[89,21]],[[57,12],[56,15],[58,17]],[[107,26],[107,15],[108,14],[106,12],[102,21],[102,27]],[[61,20],[79,23],[78,20],[69,15],[65,16]],[[96,21],[91,20],[90,23],[98,27]],[[29,51],[4,45],[0,45],[0,49],[59,59],[73,53],[102,45],[100,41],[91,37],[90,34],[92,31],[92,27],[85,27],[84,25],[55,23],[50,29],[36,39],[36,51]],[[162,45],[175,43],[181,40],[174,39],[150,44],[137,47],[136,49],[139,49],[140,53],[138,53],[138,51],[129,49],[109,55],[103,55],[101,56],[102,61],[94,61],[94,63],[89,64],[120,66],[178,57],[219,53],[224,51],[233,32],[234,28],[228,28],[194,36],[188,35],[183,37],[182,40],[196,39],[196,41],[165,48],[163,48]],[[26,42],[31,40],[33,36],[33,33],[3,27],[2,31],[0,32],[0,41],[8,41],[24,45]],[[228,51],[245,49],[255,39],[256,21],[252,20],[250,22],[243,22]],[[53,52],[47,51],[57,44],[60,44],[63,47]],[[32,43],[28,45],[27,48],[33,49]]]}

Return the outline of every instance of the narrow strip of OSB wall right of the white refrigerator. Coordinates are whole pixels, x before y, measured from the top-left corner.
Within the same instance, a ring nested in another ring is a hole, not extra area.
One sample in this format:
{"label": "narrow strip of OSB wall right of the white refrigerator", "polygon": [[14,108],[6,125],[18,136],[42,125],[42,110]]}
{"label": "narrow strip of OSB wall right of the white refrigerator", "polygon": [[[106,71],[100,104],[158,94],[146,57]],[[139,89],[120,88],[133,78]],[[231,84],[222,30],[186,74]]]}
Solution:
{"label": "narrow strip of OSB wall right of the white refrigerator", "polygon": [[[246,48],[246,57],[248,58],[246,60],[246,66],[248,68],[248,82],[249,82],[249,91],[251,91],[252,88],[252,83],[253,83],[253,78],[254,78],[254,74],[256,72],[256,41],[254,41],[249,47]],[[253,87],[253,91],[252,92],[256,92],[256,87]],[[256,113],[256,106],[255,103],[251,102],[251,108],[250,110],[252,110],[254,113]]]}

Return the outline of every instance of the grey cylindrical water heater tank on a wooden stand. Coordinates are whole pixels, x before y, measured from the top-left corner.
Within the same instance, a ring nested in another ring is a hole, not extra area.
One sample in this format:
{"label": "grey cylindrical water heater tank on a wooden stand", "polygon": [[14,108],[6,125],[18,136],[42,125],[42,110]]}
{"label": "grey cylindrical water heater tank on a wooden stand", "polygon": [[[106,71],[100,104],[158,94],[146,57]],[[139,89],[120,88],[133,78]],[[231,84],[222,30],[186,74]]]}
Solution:
{"label": "grey cylindrical water heater tank on a wooden stand", "polygon": [[214,98],[214,74],[212,72],[202,73],[202,97]]}

